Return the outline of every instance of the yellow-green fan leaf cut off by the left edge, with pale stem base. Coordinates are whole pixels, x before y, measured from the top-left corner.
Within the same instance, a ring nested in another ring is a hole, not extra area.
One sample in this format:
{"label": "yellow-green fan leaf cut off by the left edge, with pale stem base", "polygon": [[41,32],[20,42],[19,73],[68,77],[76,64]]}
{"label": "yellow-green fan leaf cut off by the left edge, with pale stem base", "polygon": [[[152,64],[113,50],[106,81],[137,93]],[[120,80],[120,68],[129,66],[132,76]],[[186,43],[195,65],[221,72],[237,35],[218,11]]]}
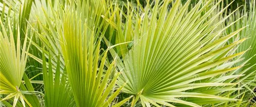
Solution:
{"label": "yellow-green fan leaf cut off by the left edge, with pale stem base", "polygon": [[19,29],[17,30],[17,45],[15,45],[11,24],[8,23],[8,29],[4,28],[1,20],[0,24],[3,30],[0,32],[0,94],[8,94],[2,100],[14,97],[14,107],[18,99],[21,99],[23,107],[25,107],[25,102],[32,107],[19,89],[27,62],[27,36],[25,35],[23,48],[21,48]]}

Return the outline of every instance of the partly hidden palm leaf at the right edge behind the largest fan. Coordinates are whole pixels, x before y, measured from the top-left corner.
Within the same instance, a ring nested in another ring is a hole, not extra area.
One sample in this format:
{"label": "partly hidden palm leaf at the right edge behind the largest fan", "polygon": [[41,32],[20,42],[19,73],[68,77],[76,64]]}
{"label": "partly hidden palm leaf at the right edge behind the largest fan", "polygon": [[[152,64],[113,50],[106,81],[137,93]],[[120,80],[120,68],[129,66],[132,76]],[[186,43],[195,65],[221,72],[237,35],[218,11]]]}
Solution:
{"label": "partly hidden palm leaf at the right edge behind the largest fan", "polygon": [[[243,83],[243,85],[245,86],[245,88],[248,91],[244,92],[244,103],[252,103],[253,102],[253,97],[256,97],[256,95],[254,94],[254,90],[256,88],[255,82],[255,71],[256,71],[256,67],[255,67],[255,63],[256,63],[256,58],[255,58],[255,41],[256,41],[256,36],[255,36],[255,22],[256,22],[256,11],[255,11],[255,0],[251,0],[249,5],[249,10],[247,10],[248,5],[244,5],[244,8],[241,12],[236,12],[234,15],[232,15],[229,20],[233,21],[238,19],[241,16],[244,16],[241,20],[239,20],[238,22],[236,22],[235,24],[233,24],[230,28],[228,28],[226,30],[226,33],[230,33],[232,31],[235,31],[235,29],[239,29],[242,28],[242,26],[246,26],[248,25],[248,27],[246,27],[244,30],[242,30],[241,32],[239,32],[236,36],[234,36],[231,40],[229,40],[229,43],[238,40],[240,38],[249,38],[248,40],[246,40],[246,42],[242,43],[236,50],[235,52],[241,52],[242,50],[246,50],[249,48],[248,52],[246,52],[243,56],[244,59],[246,59],[247,61],[247,65],[242,67],[239,71],[235,72],[236,74],[241,74],[244,73],[245,75],[241,78],[239,78],[239,81],[241,81]],[[229,44],[228,43],[228,44]],[[244,63],[244,62],[240,62],[240,63]],[[237,63],[237,64],[240,64]],[[236,66],[237,66],[236,64]],[[248,99],[250,101],[248,101]]]}

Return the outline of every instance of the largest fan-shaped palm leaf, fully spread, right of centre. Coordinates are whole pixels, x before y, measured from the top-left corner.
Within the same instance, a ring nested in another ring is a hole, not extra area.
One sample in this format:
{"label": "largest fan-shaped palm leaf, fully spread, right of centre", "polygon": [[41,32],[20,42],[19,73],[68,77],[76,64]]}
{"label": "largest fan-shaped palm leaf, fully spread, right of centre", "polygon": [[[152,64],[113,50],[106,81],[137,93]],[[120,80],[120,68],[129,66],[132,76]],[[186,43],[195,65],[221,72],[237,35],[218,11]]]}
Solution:
{"label": "largest fan-shaped palm leaf, fully spread, right of centre", "polygon": [[123,58],[124,65],[118,63],[119,69],[123,70],[119,84],[128,82],[123,91],[137,95],[134,102],[140,99],[142,106],[147,107],[150,104],[173,107],[171,103],[201,107],[201,103],[180,98],[201,98],[202,101],[216,99],[215,103],[236,100],[194,91],[199,87],[234,85],[225,83],[225,79],[206,83],[204,79],[238,69],[229,68],[230,65],[223,63],[244,54],[227,54],[244,40],[223,46],[243,28],[222,38],[215,38],[220,37],[225,30],[216,30],[225,20],[216,22],[225,8],[209,18],[220,2],[215,5],[211,3],[202,3],[201,0],[187,12],[189,2],[182,6],[180,0],[176,0],[168,10],[166,1],[161,8],[158,5],[152,9],[146,6],[145,12],[141,13],[143,16],[135,17],[137,25],[134,29],[138,32],[134,33],[132,50]]}

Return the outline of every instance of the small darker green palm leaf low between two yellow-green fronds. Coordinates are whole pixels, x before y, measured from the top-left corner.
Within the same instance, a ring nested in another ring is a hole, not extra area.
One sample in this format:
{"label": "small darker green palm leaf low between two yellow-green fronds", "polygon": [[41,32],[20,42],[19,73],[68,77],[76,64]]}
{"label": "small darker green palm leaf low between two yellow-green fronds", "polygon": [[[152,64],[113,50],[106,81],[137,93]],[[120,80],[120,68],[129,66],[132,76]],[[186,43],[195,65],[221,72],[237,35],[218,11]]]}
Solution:
{"label": "small darker green palm leaf low between two yellow-green fronds", "polygon": [[[52,70],[51,57],[49,56],[49,69],[47,70],[43,52],[43,78],[45,91],[45,107],[75,107],[71,89],[66,83],[66,75],[60,75],[60,56],[55,75]],[[48,71],[48,72],[47,72]]]}

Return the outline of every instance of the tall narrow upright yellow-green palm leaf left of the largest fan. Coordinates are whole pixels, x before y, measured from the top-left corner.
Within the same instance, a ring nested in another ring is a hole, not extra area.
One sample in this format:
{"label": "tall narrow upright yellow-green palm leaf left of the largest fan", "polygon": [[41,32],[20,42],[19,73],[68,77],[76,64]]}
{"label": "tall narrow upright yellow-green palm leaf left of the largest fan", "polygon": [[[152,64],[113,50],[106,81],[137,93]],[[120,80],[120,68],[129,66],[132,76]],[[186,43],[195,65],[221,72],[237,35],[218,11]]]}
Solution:
{"label": "tall narrow upright yellow-green palm leaf left of the largest fan", "polygon": [[[116,61],[113,60],[105,70],[107,51],[103,56],[100,55],[100,38],[99,40],[95,38],[100,31],[95,31],[94,24],[91,22],[87,20],[83,22],[81,20],[83,16],[73,13],[72,9],[66,8],[62,16],[65,17],[63,26],[58,33],[76,105],[78,107],[113,106],[111,102],[125,84],[115,89],[117,77],[120,74],[115,69]],[[115,74],[112,79],[111,72]],[[127,100],[124,99],[123,102],[117,104],[121,106]]]}

